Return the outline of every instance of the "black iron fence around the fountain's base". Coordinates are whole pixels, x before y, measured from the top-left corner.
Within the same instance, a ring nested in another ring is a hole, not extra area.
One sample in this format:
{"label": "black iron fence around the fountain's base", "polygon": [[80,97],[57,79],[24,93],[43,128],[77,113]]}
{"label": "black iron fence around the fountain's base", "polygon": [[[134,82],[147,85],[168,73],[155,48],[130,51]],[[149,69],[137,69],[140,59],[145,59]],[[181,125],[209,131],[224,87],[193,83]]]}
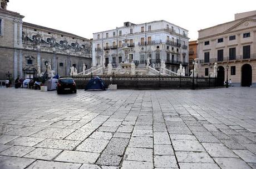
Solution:
{"label": "black iron fence around the fountain's base", "polygon": [[[67,77],[67,76],[66,76]],[[87,76],[68,76],[75,80],[78,89],[85,86],[93,78]],[[152,76],[152,75],[99,75],[106,85],[116,84],[117,89],[173,89],[173,88],[214,88],[223,86],[217,78],[192,78],[187,76]]]}

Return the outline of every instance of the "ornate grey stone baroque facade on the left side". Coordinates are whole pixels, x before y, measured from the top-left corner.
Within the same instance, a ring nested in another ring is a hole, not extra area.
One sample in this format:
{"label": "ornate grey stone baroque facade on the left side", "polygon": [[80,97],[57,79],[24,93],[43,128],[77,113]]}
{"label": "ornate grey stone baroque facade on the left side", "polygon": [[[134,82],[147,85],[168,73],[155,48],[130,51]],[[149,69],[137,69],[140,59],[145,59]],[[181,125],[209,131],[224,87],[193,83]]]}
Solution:
{"label": "ornate grey stone baroque facade on the left side", "polygon": [[8,0],[0,0],[0,80],[35,75],[45,62],[58,75],[69,75],[70,67],[78,72],[91,67],[91,41],[75,34],[23,22],[19,13],[6,9]]}

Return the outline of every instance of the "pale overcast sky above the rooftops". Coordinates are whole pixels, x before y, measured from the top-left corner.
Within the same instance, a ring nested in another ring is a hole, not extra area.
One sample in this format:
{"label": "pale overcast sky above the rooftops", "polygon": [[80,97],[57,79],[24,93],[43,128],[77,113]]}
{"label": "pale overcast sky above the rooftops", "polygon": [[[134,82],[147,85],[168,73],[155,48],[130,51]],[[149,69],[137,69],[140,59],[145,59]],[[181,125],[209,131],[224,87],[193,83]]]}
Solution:
{"label": "pale overcast sky above the rooftops", "polygon": [[8,10],[22,14],[24,22],[92,38],[92,33],[121,27],[124,22],[165,20],[198,30],[234,20],[234,14],[256,10],[255,0],[10,0]]}

